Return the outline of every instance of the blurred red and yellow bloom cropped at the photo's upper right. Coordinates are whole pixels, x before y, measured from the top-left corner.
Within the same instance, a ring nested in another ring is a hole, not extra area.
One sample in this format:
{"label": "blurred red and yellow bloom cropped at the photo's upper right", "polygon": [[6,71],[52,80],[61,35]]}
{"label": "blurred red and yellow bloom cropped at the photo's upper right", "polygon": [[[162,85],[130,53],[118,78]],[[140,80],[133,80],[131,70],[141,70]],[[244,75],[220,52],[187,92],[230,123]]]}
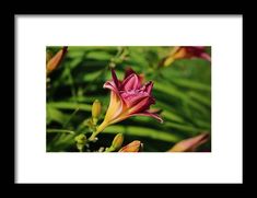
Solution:
{"label": "blurred red and yellow bloom cropped at the photo's upper right", "polygon": [[161,65],[167,67],[173,61],[184,58],[201,58],[211,61],[211,57],[206,53],[206,47],[203,46],[178,46],[173,48],[171,54],[164,58]]}

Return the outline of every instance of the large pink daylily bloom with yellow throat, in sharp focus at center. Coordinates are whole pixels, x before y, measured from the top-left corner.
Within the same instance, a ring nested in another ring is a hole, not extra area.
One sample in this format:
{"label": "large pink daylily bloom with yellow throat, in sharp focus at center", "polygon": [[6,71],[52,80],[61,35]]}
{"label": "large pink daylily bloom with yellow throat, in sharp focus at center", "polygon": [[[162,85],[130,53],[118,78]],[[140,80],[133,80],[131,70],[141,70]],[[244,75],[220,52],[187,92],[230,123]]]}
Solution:
{"label": "large pink daylily bloom with yellow throat, in sharp focus at center", "polygon": [[153,82],[142,85],[142,78],[128,69],[122,81],[117,79],[115,71],[112,69],[113,80],[104,84],[105,89],[110,90],[110,102],[106,112],[104,121],[98,126],[91,140],[107,126],[121,121],[131,116],[150,116],[163,123],[162,118],[152,113],[150,105],[155,103],[151,95]]}

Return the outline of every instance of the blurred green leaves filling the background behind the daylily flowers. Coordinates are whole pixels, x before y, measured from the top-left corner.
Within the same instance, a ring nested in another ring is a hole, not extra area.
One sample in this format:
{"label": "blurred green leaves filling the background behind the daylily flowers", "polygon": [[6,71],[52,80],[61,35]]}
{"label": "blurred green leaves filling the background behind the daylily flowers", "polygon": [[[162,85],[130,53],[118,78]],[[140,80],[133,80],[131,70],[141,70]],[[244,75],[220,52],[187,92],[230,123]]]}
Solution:
{"label": "blurred green leaves filling the background behind the daylily flowers", "polygon": [[[156,104],[164,124],[150,117],[131,117],[107,127],[93,147],[109,147],[118,132],[125,143],[143,142],[145,152],[164,152],[176,142],[211,131],[211,63],[202,59],[180,59],[159,67],[173,47],[73,47],[47,82],[47,151],[78,151],[74,137],[90,136],[84,120],[91,117],[91,105],[100,100],[102,119],[109,103],[109,91],[103,84],[110,80],[109,67],[119,79],[126,67],[153,81]],[[55,54],[60,47],[47,47]],[[207,48],[210,54],[210,47]],[[101,123],[101,121],[100,121]],[[72,132],[73,131],[73,132]],[[210,141],[200,151],[210,151]]]}

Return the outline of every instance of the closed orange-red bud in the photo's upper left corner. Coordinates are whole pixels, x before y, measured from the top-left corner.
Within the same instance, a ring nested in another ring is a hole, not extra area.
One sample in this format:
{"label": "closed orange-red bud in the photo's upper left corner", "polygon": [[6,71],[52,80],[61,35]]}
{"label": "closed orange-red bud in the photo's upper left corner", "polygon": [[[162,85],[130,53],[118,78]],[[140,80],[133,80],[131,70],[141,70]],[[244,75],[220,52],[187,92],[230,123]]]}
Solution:
{"label": "closed orange-red bud in the photo's upper left corner", "polygon": [[62,47],[54,57],[49,57],[49,55],[46,56],[46,72],[49,74],[51,71],[54,71],[63,59],[68,47]]}

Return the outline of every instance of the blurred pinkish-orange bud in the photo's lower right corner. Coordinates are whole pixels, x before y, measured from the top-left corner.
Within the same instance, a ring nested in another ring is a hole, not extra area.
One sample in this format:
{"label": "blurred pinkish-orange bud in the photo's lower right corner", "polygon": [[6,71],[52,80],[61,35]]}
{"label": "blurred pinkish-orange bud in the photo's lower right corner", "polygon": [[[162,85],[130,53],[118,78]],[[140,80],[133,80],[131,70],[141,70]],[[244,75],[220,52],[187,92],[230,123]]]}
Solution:
{"label": "blurred pinkish-orange bud in the photo's lower right corner", "polygon": [[196,149],[209,140],[209,133],[201,133],[196,137],[179,141],[167,152],[194,152]]}

